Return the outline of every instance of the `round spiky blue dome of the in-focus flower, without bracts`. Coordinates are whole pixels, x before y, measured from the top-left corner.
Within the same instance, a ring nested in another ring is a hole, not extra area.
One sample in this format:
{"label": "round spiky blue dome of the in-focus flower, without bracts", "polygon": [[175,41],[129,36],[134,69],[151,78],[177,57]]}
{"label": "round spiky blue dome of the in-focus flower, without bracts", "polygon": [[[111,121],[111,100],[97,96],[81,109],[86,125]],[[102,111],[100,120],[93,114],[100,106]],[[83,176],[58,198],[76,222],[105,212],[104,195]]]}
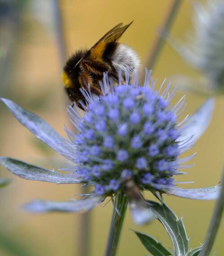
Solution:
{"label": "round spiky blue dome of the in-focus flower, without bracts", "polygon": [[[114,87],[104,79],[103,96],[90,100],[86,115],[76,123],[77,175],[95,186],[95,194],[114,194],[129,179],[141,190],[162,190],[173,186],[172,176],[180,174],[183,145],[177,143],[177,115],[185,98],[171,108],[169,86],[159,95],[149,82],[149,74],[144,87]],[[69,113],[74,123],[78,113],[72,108]]]}

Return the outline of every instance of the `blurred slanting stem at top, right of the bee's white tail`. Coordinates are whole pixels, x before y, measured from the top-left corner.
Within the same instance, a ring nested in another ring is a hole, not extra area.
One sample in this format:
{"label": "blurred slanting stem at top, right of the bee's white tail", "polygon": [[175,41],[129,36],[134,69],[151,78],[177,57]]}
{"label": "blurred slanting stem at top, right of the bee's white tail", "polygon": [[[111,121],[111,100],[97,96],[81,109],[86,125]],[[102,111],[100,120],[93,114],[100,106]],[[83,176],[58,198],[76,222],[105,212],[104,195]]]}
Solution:
{"label": "blurred slanting stem at top, right of the bee's white tail", "polygon": [[169,10],[167,12],[167,16],[165,17],[162,28],[161,28],[163,36],[159,34],[156,37],[154,46],[152,47],[149,57],[147,58],[146,67],[148,70],[151,70],[154,67],[155,62],[159,57],[159,53],[164,45],[164,37],[166,37],[169,34],[169,31],[172,27],[172,23],[174,21],[174,18],[176,17],[176,14],[181,5],[181,2],[182,0],[173,0],[173,2],[170,4]]}

